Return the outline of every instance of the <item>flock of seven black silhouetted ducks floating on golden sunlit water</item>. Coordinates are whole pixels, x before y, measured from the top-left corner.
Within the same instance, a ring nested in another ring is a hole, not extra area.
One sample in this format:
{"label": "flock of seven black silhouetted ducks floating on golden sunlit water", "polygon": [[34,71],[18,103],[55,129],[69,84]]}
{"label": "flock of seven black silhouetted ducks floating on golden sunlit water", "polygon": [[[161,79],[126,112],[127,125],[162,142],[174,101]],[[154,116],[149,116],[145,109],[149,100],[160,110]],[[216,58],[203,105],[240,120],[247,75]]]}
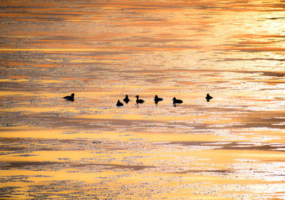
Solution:
{"label": "flock of seven black silhouetted ducks floating on golden sunlit water", "polygon": [[[143,103],[143,102],[145,102],[145,100],[140,99],[139,95],[136,95],[135,98],[137,98],[137,100],[135,100],[135,102],[137,103],[137,105],[138,105],[138,104],[141,104],[141,103]],[[70,101],[74,101],[74,93],[72,93],[70,96],[64,97],[63,99],[65,99],[65,100],[70,100]],[[205,99],[207,100],[207,102],[209,102],[209,100],[211,100],[212,97],[211,97],[209,94],[207,94],[207,96],[206,96]],[[162,98],[159,98],[157,95],[155,95],[155,99],[154,99],[154,100],[155,100],[155,104],[157,104],[157,102],[160,102],[160,101],[162,101],[163,99],[162,99]],[[125,98],[123,99],[123,101],[124,101],[125,103],[128,103],[128,102],[130,101],[128,95],[125,95]],[[177,100],[177,98],[173,98],[172,101],[173,101],[173,105],[180,104],[180,103],[183,102],[182,100]],[[123,106],[123,102],[120,102],[120,100],[118,100],[118,102],[117,102],[116,105],[117,105],[118,107]]]}

